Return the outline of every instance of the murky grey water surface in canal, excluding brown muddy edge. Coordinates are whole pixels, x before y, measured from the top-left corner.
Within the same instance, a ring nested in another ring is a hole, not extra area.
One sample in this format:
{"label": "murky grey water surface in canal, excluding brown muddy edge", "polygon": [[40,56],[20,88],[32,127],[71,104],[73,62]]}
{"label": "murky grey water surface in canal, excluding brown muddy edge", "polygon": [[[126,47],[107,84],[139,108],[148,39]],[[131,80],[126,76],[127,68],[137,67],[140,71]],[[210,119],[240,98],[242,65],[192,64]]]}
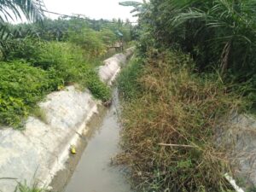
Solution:
{"label": "murky grey water surface in canal, excluding brown muddy edge", "polygon": [[65,192],[131,192],[124,173],[110,166],[111,158],[119,152],[118,94],[102,117],[101,125],[87,138],[86,147],[69,179]]}

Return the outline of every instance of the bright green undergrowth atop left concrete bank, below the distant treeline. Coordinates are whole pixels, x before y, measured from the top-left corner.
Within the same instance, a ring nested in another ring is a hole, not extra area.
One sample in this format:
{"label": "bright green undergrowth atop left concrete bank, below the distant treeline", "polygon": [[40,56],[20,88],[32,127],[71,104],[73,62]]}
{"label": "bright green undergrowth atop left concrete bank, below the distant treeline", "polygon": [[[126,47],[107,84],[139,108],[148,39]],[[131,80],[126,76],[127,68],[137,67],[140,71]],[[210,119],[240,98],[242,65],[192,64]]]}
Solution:
{"label": "bright green undergrowth atop left concrete bank, below the distant treeline", "polygon": [[21,128],[37,103],[65,85],[79,84],[103,102],[110,99],[108,86],[99,79],[97,57],[71,43],[20,39],[9,43],[0,62],[0,124]]}

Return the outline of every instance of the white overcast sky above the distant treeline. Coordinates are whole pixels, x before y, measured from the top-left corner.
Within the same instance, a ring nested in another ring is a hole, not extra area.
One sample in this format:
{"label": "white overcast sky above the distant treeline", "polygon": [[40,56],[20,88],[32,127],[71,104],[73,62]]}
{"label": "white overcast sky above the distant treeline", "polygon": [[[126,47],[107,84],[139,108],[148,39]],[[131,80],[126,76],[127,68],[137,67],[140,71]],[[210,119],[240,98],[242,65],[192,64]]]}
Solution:
{"label": "white overcast sky above the distant treeline", "polygon": [[[113,18],[125,20],[128,18],[131,21],[136,21],[137,18],[130,14],[132,8],[120,6],[120,1],[125,0],[44,0],[44,3],[49,11],[65,15],[82,14],[96,20],[112,20]],[[143,0],[137,1],[143,2]],[[47,16],[52,19],[58,17],[57,15]]]}

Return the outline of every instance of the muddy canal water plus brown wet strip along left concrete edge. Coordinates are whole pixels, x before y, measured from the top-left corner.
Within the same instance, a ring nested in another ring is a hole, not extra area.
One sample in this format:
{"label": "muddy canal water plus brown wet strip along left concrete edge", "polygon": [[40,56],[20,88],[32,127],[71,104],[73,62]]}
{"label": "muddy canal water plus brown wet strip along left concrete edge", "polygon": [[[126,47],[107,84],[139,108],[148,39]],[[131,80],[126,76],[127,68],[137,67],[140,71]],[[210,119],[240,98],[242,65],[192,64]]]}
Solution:
{"label": "muddy canal water plus brown wet strip along left concrete edge", "polygon": [[71,155],[67,168],[59,172],[51,183],[60,192],[132,192],[125,179],[125,168],[111,166],[119,153],[119,99],[113,93],[110,108],[101,108],[90,122],[90,132],[81,136],[78,152]]}

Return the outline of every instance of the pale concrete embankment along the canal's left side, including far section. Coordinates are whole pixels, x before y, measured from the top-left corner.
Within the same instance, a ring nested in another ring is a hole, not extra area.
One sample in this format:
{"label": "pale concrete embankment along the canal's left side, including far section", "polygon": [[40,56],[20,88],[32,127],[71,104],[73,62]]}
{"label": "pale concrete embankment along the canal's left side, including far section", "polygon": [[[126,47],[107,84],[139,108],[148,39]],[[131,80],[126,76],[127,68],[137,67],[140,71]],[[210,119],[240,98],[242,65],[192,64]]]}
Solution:
{"label": "pale concrete embankment along the canal's left side, including far section", "polygon": [[[132,55],[133,49],[113,55],[99,68],[102,81],[112,84],[120,67]],[[10,127],[0,130],[0,191],[15,190],[17,181],[38,180],[48,185],[55,173],[64,169],[71,145],[79,141],[86,123],[98,113],[101,102],[74,86],[53,92],[39,103],[45,119],[29,117],[25,131]]]}

